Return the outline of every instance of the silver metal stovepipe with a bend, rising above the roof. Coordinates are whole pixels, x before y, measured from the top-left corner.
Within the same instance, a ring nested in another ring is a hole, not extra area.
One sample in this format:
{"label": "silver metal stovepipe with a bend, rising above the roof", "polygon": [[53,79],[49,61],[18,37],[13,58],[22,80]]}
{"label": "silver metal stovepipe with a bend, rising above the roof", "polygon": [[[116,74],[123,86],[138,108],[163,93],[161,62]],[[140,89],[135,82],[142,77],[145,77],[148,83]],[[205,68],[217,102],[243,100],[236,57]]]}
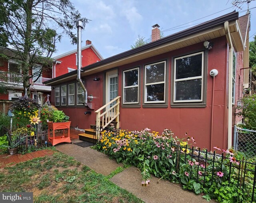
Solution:
{"label": "silver metal stovepipe with a bend, rising above the roof", "polygon": [[83,24],[81,21],[78,20],[77,24],[77,80],[80,83],[82,89],[84,90],[84,105],[87,105],[87,98],[88,98],[88,92],[86,88],[84,87],[84,84],[81,80],[81,60],[82,60],[82,51],[81,51],[81,37],[82,37],[82,29]]}

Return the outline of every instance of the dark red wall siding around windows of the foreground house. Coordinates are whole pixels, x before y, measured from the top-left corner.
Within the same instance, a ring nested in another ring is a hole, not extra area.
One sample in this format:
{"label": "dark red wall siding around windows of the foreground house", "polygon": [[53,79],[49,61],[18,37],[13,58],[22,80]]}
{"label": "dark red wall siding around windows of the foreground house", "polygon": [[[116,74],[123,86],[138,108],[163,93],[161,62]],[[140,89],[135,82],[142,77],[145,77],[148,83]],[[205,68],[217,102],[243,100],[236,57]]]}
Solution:
{"label": "dark red wall siding around windows of the foreground house", "polygon": [[[214,43],[214,48],[208,51],[208,66],[206,66],[207,80],[206,84],[206,107],[171,107],[171,92],[172,92],[172,57],[186,55],[190,52],[198,52],[202,50],[202,43],[198,43],[186,48],[181,48],[175,51],[160,54],[158,56],[150,57],[145,60],[140,60],[132,64],[126,64],[118,67],[118,96],[121,96],[122,100],[122,72],[135,67],[140,67],[140,105],[134,107],[120,108],[120,127],[128,130],[141,130],[145,127],[149,127],[152,130],[162,132],[165,128],[169,128],[174,132],[174,135],[179,137],[185,136],[185,132],[188,135],[196,138],[197,145],[200,147],[210,148],[210,133],[211,133],[211,111],[212,111],[212,86],[213,78],[209,75],[210,70],[217,69],[218,76],[215,78],[214,88],[214,122],[213,122],[213,143],[214,146],[226,147],[227,140],[227,119],[225,111],[227,111],[226,102],[224,101],[226,91],[226,81],[228,74],[227,68],[227,42],[226,37],[222,36],[211,40]],[[167,61],[167,103],[166,107],[146,107],[143,105],[143,78],[144,78],[144,65],[148,63]],[[105,72],[98,73],[97,76],[100,81],[93,81],[95,75],[90,75],[82,80],[85,80],[85,86],[88,90],[88,95],[92,94],[95,104],[95,109],[98,109],[103,105],[105,98]],[[75,81],[72,81],[75,82]],[[71,81],[66,84],[71,84]],[[64,85],[64,84],[62,84]],[[61,86],[61,85],[60,85]],[[54,98],[54,91],[52,92],[52,98]],[[54,103],[54,102],[53,102]],[[80,128],[90,128],[90,124],[95,124],[96,114],[92,111],[91,114],[84,115],[87,111],[84,106],[57,106],[58,109],[63,110],[70,116],[71,125]],[[224,125],[225,123],[225,125]]]}

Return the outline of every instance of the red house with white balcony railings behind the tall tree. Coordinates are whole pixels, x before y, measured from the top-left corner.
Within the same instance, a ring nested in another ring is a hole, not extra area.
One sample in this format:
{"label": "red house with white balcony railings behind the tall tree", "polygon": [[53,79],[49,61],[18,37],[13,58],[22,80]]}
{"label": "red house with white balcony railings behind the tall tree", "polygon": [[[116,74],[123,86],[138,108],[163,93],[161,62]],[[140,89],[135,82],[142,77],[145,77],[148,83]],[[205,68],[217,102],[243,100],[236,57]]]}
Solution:
{"label": "red house with white balcony railings behind the tall tree", "polygon": [[[6,60],[5,58],[0,58],[0,82],[7,87],[8,92],[7,94],[0,94],[0,100],[15,100],[20,96],[24,96],[22,70],[19,68],[19,61],[14,57],[15,50],[11,51],[2,48],[1,52],[11,59]],[[42,74],[40,74],[42,68]],[[32,98],[36,99],[37,92],[42,92],[43,97],[46,98],[47,94],[51,92],[51,87],[45,85],[43,82],[52,78],[51,68],[46,69],[40,64],[36,64],[32,71],[33,78],[29,79],[29,83],[31,87],[33,87],[33,89],[31,89]],[[34,82],[37,78],[38,80]]]}

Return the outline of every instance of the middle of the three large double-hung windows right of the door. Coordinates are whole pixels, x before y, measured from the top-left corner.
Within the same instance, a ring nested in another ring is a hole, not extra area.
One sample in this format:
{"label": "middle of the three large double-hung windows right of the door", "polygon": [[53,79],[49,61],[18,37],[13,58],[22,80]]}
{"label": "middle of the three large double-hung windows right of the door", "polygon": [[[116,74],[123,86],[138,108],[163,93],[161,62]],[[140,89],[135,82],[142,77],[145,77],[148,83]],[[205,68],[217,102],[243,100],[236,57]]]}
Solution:
{"label": "middle of the three large double-hung windows right of the door", "polygon": [[144,103],[164,103],[166,92],[166,62],[145,66]]}

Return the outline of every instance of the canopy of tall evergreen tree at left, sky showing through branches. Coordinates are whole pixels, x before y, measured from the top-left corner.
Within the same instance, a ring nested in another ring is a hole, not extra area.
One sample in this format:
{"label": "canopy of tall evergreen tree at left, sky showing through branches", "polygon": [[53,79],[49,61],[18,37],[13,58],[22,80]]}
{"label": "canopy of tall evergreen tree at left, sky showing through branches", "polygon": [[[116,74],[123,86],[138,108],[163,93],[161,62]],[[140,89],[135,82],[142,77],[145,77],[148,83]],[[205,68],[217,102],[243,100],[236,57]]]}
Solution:
{"label": "canopy of tall evergreen tree at left, sky showing through branches", "polygon": [[[8,47],[12,52],[9,58],[18,60],[24,89],[31,85],[30,78],[35,82],[45,68],[51,67],[56,42],[63,34],[76,43],[77,20],[84,25],[89,21],[70,0],[0,0],[0,46]],[[44,68],[38,70],[36,64]]]}

